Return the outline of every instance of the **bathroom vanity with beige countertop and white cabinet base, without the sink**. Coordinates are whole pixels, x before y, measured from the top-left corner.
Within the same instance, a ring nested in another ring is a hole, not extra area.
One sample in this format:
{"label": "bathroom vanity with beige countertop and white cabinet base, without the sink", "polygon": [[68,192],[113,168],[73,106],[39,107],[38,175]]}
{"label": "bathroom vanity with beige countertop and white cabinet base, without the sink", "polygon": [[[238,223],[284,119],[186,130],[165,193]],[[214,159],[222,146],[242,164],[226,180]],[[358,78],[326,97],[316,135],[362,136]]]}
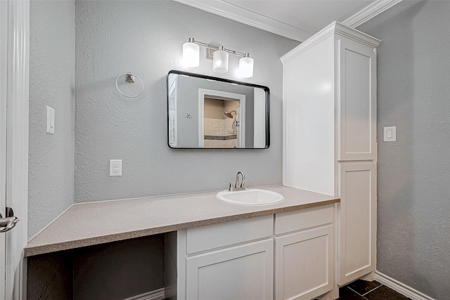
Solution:
{"label": "bathroom vanity with beige countertop and white cabinet base, without the sink", "polygon": [[331,291],[340,200],[286,186],[263,189],[285,200],[243,206],[212,192],[75,204],[24,253],[67,256],[165,234],[166,299],[311,299]]}

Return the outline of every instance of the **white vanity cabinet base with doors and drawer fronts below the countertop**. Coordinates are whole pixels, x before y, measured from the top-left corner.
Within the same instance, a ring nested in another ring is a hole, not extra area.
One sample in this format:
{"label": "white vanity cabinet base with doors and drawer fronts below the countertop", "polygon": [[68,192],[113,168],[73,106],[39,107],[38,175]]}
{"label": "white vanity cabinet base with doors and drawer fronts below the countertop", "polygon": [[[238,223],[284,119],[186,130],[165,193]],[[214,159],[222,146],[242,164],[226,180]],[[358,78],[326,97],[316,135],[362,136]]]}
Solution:
{"label": "white vanity cabinet base with doors and drawer fronts below the countertop", "polygon": [[178,230],[166,299],[314,299],[333,289],[334,204]]}

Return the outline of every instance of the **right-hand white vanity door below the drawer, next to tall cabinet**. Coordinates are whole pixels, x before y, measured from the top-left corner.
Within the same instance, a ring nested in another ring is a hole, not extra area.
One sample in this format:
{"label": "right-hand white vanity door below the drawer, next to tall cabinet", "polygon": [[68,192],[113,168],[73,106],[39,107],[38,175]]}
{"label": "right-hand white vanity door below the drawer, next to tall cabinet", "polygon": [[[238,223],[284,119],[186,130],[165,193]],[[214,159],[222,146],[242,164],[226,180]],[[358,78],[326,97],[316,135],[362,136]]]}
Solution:
{"label": "right-hand white vanity door below the drawer, next to tall cabinet", "polygon": [[333,289],[333,241],[333,225],[275,238],[277,300],[309,300]]}

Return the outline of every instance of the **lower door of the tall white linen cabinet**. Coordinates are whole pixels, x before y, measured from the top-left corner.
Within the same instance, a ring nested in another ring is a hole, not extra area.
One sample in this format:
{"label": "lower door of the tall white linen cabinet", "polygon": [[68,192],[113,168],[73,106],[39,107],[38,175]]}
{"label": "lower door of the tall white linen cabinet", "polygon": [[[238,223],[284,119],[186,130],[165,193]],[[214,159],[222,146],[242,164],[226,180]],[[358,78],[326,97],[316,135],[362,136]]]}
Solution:
{"label": "lower door of the tall white linen cabinet", "polygon": [[375,270],[376,174],[373,162],[339,164],[338,284]]}

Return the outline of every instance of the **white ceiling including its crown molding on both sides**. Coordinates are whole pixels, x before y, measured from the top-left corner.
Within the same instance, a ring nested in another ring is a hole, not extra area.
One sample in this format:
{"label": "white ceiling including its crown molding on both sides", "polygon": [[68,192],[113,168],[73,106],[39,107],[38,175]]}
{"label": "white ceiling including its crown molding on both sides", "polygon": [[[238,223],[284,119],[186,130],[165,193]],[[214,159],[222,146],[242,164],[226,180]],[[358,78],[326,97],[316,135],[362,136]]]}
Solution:
{"label": "white ceiling including its crown molding on both sides", "polygon": [[175,0],[304,41],[334,21],[356,27],[401,0]]}

